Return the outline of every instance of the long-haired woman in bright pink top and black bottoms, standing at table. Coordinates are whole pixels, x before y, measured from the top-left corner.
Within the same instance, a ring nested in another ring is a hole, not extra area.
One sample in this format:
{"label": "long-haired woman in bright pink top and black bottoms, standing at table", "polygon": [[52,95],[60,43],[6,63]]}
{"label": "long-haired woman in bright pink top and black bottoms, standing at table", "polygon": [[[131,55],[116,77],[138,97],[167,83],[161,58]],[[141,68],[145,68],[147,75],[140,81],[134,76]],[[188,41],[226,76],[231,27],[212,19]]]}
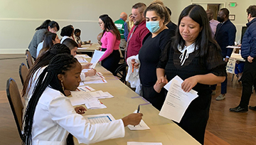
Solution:
{"label": "long-haired woman in bright pink top and black bottoms, standing at table", "polygon": [[110,72],[114,74],[114,71],[118,68],[120,60],[119,44],[121,36],[117,27],[114,26],[112,18],[107,14],[99,17],[99,25],[103,30],[102,38],[100,40],[102,43],[101,51],[105,51],[102,58],[100,58],[100,61],[104,68],[110,70]]}

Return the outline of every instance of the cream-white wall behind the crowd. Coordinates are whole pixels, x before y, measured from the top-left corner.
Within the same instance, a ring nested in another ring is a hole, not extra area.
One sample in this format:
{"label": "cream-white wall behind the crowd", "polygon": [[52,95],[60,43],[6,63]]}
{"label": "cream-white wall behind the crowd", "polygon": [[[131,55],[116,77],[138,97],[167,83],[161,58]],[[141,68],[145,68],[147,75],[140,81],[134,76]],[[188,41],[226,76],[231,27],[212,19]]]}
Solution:
{"label": "cream-white wall behind the crowd", "polygon": [[[149,5],[152,0],[144,0]],[[192,3],[202,3],[207,0],[164,0],[164,4],[172,11],[171,20],[177,23],[181,11]],[[255,0],[253,0],[255,1]],[[101,14],[109,14],[113,21],[119,18],[124,11],[131,13],[135,0],[0,0],[0,53],[25,53],[28,43],[31,41],[36,27],[46,19],[57,21],[60,28],[72,24],[82,30],[82,41],[91,40],[97,42],[96,36],[101,32],[97,24]],[[210,3],[225,3],[230,14],[235,14],[235,26],[237,26],[237,38],[240,39],[241,27],[247,23],[246,9],[252,0],[237,0],[238,6],[231,8],[229,2],[233,0],[211,0]],[[202,4],[203,5],[203,4]],[[58,36],[60,31],[58,32]]]}

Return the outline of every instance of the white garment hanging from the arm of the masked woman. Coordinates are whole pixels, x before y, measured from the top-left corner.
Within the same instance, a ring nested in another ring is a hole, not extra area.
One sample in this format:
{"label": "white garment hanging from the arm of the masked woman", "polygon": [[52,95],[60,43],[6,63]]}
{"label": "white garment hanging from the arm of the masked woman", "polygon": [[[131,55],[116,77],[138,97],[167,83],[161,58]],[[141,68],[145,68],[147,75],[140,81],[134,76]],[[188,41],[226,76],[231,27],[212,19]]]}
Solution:
{"label": "white garment hanging from the arm of the masked woman", "polygon": [[125,80],[130,82],[131,87],[136,87],[135,92],[138,95],[142,95],[142,84],[139,80],[139,68],[137,69],[134,68],[134,72],[132,73],[132,59],[134,59],[136,63],[140,63],[139,55],[133,55],[127,58],[127,65],[129,66],[129,68],[128,68],[127,77],[125,78]]}

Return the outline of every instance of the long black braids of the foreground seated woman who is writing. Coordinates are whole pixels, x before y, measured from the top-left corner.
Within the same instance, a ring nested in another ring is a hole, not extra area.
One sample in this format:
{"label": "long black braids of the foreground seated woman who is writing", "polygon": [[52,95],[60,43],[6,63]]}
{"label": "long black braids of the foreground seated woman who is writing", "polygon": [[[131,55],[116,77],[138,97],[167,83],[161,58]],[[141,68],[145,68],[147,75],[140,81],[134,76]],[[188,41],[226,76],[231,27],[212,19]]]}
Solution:
{"label": "long black braids of the foreground seated woman who is writing", "polygon": [[38,77],[36,81],[36,88],[33,92],[31,99],[28,102],[28,107],[26,108],[26,114],[23,119],[23,144],[30,145],[32,144],[32,126],[33,126],[33,116],[36,111],[36,105],[38,100],[43,94],[46,87],[50,87],[54,90],[58,90],[63,95],[65,95],[60,80],[58,80],[58,74],[63,74],[68,70],[75,68],[75,63],[78,63],[78,60],[73,57],[73,55],[68,54],[59,54],[50,60],[48,67],[43,70],[43,73]]}

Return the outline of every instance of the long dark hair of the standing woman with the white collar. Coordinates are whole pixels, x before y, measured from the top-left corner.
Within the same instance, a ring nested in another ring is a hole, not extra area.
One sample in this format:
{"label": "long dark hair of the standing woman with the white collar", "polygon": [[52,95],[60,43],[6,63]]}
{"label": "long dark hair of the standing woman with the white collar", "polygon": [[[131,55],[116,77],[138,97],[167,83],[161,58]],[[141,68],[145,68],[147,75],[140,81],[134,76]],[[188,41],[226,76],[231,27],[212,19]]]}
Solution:
{"label": "long dark hair of the standing woman with the white collar", "polygon": [[[181,19],[185,16],[189,16],[190,18],[192,18],[193,21],[196,21],[196,23],[198,23],[202,28],[195,41],[195,50],[196,47],[198,47],[197,55],[199,55],[201,58],[205,57],[208,53],[209,43],[213,43],[213,45],[216,45],[216,47],[219,48],[218,44],[211,36],[208,17],[206,11],[203,9],[202,6],[197,4],[191,4],[183,9],[183,11],[181,11],[181,15],[178,18],[178,26],[180,26]],[[184,48],[185,46],[185,41],[181,36],[179,28],[177,28],[176,35],[173,41],[173,47],[175,50],[178,49],[178,45],[181,45],[181,48]]]}

